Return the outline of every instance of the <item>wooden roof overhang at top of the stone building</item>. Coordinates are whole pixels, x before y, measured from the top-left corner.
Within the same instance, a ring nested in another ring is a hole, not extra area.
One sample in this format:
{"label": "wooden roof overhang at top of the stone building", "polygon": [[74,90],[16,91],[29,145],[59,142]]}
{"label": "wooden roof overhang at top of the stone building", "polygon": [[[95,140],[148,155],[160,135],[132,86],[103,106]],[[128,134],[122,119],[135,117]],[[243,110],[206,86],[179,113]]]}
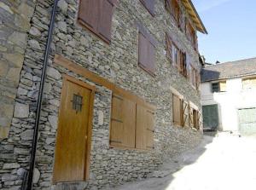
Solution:
{"label": "wooden roof overhang at top of the stone building", "polygon": [[204,24],[201,21],[201,18],[199,16],[199,14],[197,13],[194,4],[191,2],[191,0],[182,0],[182,3],[184,5],[184,7],[187,9],[191,19],[193,20],[195,26],[196,26],[196,30],[198,30],[199,32],[205,33],[207,34],[207,29],[204,26]]}

